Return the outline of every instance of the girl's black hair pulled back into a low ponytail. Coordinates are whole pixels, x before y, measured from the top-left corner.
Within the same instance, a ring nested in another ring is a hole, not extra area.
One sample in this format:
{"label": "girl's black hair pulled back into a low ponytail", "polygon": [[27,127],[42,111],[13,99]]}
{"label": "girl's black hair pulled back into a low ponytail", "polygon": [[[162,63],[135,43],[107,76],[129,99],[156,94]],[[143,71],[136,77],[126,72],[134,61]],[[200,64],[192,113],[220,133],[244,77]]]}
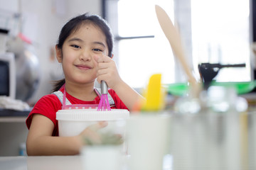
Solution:
{"label": "girl's black hair pulled back into a low ponytail", "polygon": [[[62,50],[63,44],[68,36],[78,30],[85,23],[92,23],[94,26],[97,26],[100,28],[100,30],[102,30],[102,33],[104,33],[106,36],[107,48],[109,51],[108,56],[112,56],[114,40],[110,26],[102,17],[90,13],[84,13],[80,16],[76,16],[75,18],[72,18],[70,21],[65,23],[63,28],[60,30],[60,35],[58,37],[58,49]],[[65,84],[65,79],[54,81],[53,91],[58,91],[58,89],[60,89],[63,84]]]}

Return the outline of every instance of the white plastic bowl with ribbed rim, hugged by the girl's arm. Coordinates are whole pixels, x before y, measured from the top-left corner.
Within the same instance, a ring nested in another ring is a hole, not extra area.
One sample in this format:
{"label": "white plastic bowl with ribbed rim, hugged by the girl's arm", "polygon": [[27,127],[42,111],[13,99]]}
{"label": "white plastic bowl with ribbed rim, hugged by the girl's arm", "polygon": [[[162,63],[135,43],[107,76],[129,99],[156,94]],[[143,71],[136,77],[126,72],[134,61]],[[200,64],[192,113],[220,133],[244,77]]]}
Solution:
{"label": "white plastic bowl with ribbed rim, hugged by the girl's arm", "polygon": [[112,109],[111,111],[97,111],[97,109],[70,109],[60,110],[56,113],[59,136],[79,135],[87,126],[98,121],[107,121],[108,125],[101,131],[124,132],[124,125],[129,118],[126,109]]}

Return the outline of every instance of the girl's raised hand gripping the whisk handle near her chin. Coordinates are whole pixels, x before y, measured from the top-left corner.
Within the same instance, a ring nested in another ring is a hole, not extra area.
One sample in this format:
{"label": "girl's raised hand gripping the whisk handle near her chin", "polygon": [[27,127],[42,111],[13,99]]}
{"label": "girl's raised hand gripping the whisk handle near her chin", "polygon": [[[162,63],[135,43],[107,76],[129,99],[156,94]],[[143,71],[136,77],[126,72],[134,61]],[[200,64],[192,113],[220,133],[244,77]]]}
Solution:
{"label": "girl's raised hand gripping the whisk handle near her chin", "polygon": [[119,77],[117,65],[114,60],[107,55],[97,57],[95,60],[98,63],[97,81],[100,83],[104,80],[107,82],[107,86],[111,89],[115,89],[115,87],[122,82],[122,79]]}

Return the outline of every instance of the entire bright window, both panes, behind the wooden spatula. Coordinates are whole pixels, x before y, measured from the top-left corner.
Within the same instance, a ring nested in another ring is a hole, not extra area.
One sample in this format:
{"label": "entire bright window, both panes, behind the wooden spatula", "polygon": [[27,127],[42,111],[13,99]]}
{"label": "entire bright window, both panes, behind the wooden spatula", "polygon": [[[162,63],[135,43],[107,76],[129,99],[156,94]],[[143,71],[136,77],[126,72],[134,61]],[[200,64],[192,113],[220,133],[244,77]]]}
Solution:
{"label": "entire bright window, both panes, behind the wooden spatula", "polygon": [[162,74],[163,83],[186,81],[181,79],[186,77],[184,73],[177,74],[182,69],[159,26],[155,4],[164,8],[174,23],[187,23],[178,28],[188,30],[181,36],[188,40],[185,49],[191,49],[190,64],[198,77],[201,62],[245,63],[245,68],[221,69],[217,80],[250,81],[249,0],[105,0],[105,4],[115,36],[114,60],[130,86],[144,87],[155,73]]}

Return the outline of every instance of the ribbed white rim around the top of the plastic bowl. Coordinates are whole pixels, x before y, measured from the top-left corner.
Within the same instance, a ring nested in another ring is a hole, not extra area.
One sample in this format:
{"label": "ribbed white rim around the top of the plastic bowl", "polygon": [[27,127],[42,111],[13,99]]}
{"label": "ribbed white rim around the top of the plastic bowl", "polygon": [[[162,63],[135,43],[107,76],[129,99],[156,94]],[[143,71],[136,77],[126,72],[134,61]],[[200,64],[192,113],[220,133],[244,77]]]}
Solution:
{"label": "ribbed white rim around the top of the plastic bowl", "polygon": [[111,111],[97,111],[97,109],[70,109],[59,110],[56,113],[57,120],[70,121],[101,121],[127,118],[129,118],[129,111],[126,109],[112,109]]}

